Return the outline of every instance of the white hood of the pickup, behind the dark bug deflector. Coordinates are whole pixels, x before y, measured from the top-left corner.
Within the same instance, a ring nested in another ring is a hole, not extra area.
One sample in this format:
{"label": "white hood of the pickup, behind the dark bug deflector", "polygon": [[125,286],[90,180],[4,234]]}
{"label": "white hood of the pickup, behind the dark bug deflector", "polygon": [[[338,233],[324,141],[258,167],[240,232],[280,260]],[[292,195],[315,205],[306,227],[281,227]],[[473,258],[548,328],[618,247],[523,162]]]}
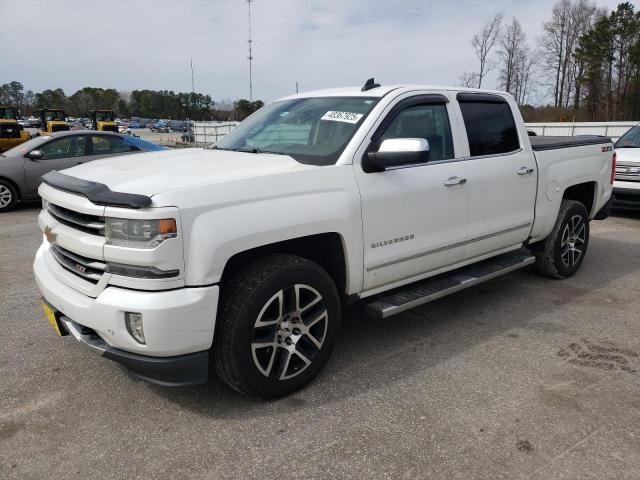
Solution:
{"label": "white hood of the pickup, behind the dark bug deflector", "polygon": [[151,197],[187,187],[313,168],[318,167],[301,164],[288,155],[185,148],[96,160],[63,173],[103,183],[114,192]]}

